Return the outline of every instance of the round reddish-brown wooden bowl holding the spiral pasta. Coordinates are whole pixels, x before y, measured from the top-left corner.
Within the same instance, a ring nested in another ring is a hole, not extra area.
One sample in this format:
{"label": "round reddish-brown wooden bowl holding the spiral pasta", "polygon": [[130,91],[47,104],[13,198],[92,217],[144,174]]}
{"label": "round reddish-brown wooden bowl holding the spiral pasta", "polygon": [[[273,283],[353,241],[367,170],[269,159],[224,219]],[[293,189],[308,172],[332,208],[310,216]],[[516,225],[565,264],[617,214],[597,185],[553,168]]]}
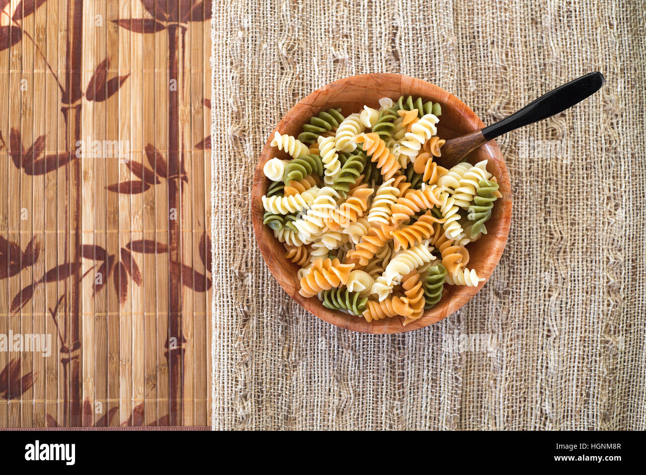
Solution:
{"label": "round reddish-brown wooden bowl holding the spiral pasta", "polygon": [[[442,106],[442,115],[438,123],[437,135],[450,138],[474,132],[485,126],[483,122],[457,97],[452,96],[439,88],[420,79],[401,76],[400,74],[360,74],[359,76],[346,77],[323,86],[309,94],[295,105],[275,130],[280,134],[297,136],[302,132],[302,126],[321,110],[331,107],[340,107],[342,114],[348,116],[352,112],[359,112],[363,105],[379,107],[381,97],[391,97],[397,100],[399,96],[422,97],[425,100],[439,102]],[[495,141],[490,141],[469,154],[468,161],[472,164],[488,159],[487,169],[497,177],[501,199],[494,203],[491,219],[486,224],[488,234],[483,235],[479,241],[468,246],[471,259],[468,267],[475,268],[478,276],[485,278],[477,287],[444,286],[444,296],[435,307],[424,312],[422,318],[404,327],[402,318],[387,318],[368,323],[360,316],[352,316],[343,312],[330,310],[323,307],[316,298],[304,298],[298,294],[300,285],[297,278],[297,265],[289,262],[285,257],[285,248],[273,235],[273,231],[262,224],[264,208],[261,197],[266,193],[269,179],[264,175],[262,167],[272,157],[289,158],[284,151],[271,147],[271,137],[262,149],[258,166],[253,177],[253,192],[251,206],[253,213],[253,228],[260,245],[262,256],[273,276],[280,286],[307,311],[322,318],[337,327],[348,328],[364,333],[390,334],[407,332],[416,328],[426,327],[439,321],[453,312],[459,310],[480,290],[494,272],[509,234],[510,217],[512,213],[512,199],[509,183],[509,174],[503,156]],[[446,290],[448,289],[448,291]]]}

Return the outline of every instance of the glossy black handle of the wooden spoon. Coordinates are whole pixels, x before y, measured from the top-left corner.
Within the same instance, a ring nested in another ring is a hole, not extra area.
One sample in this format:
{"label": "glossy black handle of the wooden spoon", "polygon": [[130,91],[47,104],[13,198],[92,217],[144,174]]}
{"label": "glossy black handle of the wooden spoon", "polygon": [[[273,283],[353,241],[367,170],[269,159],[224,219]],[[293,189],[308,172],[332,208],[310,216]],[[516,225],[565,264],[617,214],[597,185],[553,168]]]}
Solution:
{"label": "glossy black handle of the wooden spoon", "polygon": [[489,141],[510,132],[510,130],[542,121],[563,112],[586,97],[592,96],[603,86],[603,81],[603,74],[600,72],[590,72],[578,77],[574,81],[543,94],[536,101],[526,105],[518,112],[514,112],[511,116],[486,126],[482,129],[483,136]]}

